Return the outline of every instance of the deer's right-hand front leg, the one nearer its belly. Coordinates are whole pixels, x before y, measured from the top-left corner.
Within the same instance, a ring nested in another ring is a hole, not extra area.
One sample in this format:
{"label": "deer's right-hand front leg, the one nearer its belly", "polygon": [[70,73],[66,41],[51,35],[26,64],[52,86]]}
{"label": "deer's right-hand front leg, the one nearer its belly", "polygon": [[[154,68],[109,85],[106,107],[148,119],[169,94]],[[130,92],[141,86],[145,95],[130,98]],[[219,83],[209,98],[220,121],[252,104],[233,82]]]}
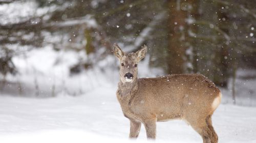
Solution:
{"label": "deer's right-hand front leg, the one nearer its belly", "polygon": [[156,139],[156,118],[149,118],[144,121],[146,136],[148,139]]}

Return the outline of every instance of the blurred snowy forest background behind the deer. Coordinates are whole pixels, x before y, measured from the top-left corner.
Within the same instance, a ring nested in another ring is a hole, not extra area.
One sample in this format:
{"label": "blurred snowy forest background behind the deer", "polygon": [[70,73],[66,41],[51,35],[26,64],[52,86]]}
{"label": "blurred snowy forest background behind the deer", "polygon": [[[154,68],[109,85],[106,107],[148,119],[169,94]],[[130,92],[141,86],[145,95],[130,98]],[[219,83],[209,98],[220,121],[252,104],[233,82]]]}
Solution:
{"label": "blurred snowy forest background behind the deer", "polygon": [[200,73],[226,91],[226,102],[256,105],[255,3],[0,1],[0,90],[76,96],[118,82],[113,43],[125,52],[146,44],[141,77]]}

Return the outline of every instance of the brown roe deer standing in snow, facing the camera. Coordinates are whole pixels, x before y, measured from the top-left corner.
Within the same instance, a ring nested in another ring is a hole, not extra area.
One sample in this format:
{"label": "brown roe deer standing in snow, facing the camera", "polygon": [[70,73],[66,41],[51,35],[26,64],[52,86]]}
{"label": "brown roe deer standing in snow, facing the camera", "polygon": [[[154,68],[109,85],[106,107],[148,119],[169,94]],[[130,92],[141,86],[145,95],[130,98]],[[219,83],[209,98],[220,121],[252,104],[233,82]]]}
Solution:
{"label": "brown roe deer standing in snow, facing the camera", "polygon": [[218,142],[211,121],[221,103],[218,87],[200,74],[138,78],[138,62],[146,52],[146,45],[136,53],[124,53],[114,44],[120,63],[116,96],[123,115],[130,120],[129,138],[137,138],[143,124],[147,139],[154,140],[156,122],[183,120],[201,135],[203,143]]}

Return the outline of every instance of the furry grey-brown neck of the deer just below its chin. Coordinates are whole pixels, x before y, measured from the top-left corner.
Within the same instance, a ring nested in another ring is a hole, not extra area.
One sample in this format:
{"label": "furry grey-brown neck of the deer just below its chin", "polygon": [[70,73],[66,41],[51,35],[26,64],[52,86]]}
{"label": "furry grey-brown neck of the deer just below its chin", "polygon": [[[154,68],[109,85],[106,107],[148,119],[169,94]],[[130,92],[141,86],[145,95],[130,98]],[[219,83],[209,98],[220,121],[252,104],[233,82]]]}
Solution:
{"label": "furry grey-brown neck of the deer just below its chin", "polygon": [[119,82],[118,90],[121,97],[131,96],[138,90],[138,79],[136,78],[133,82]]}

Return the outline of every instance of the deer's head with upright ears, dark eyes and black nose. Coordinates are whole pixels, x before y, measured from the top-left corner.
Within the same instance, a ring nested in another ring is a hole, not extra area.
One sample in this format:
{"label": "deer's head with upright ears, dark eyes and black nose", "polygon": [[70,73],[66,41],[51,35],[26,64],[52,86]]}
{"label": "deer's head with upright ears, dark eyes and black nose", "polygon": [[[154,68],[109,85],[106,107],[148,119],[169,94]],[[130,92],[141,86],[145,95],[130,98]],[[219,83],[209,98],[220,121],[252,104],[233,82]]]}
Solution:
{"label": "deer's head with upright ears, dark eyes and black nose", "polygon": [[122,83],[133,82],[138,75],[138,62],[146,55],[146,45],[136,53],[124,53],[117,44],[114,44],[114,53],[120,62],[120,79]]}

